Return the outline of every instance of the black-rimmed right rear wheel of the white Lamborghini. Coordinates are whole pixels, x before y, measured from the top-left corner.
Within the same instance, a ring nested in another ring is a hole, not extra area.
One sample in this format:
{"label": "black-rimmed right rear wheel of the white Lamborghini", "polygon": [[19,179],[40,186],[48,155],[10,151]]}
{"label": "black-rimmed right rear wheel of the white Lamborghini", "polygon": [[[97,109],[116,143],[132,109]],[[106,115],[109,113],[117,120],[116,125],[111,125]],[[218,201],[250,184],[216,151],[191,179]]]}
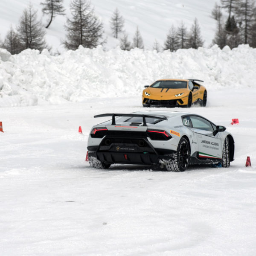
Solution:
{"label": "black-rimmed right rear wheel of the white Lamborghini", "polygon": [[168,163],[166,163],[166,169],[169,172],[183,172],[188,168],[189,160],[189,141],[185,137],[182,137],[177,146],[177,151],[174,154],[174,159],[169,160]]}

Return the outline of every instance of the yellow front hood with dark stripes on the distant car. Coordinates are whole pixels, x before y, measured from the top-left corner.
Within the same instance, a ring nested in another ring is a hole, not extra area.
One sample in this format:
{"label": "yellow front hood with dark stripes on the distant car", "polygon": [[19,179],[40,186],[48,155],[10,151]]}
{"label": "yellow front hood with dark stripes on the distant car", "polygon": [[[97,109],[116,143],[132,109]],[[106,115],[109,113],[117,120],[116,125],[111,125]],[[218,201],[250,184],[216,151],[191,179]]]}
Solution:
{"label": "yellow front hood with dark stripes on the distant car", "polygon": [[[150,93],[149,98],[151,99],[158,99],[158,100],[165,100],[165,99],[179,99],[186,96],[189,92],[187,88],[183,89],[168,89],[168,88],[153,88],[148,87],[145,92]],[[175,94],[184,93],[182,96],[176,97]]]}

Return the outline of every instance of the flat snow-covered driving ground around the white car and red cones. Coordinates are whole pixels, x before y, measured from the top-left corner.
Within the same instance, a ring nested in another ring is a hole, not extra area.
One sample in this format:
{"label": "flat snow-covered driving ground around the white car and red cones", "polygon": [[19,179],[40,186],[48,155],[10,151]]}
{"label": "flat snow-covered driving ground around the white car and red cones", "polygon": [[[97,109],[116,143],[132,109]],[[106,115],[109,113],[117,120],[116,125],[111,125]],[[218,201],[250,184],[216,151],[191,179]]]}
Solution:
{"label": "flat snow-covered driving ground around the white car and red cones", "polygon": [[0,255],[255,255],[256,89],[208,95],[189,111],[233,134],[230,168],[90,168],[93,115],[141,110],[140,95],[0,108]]}

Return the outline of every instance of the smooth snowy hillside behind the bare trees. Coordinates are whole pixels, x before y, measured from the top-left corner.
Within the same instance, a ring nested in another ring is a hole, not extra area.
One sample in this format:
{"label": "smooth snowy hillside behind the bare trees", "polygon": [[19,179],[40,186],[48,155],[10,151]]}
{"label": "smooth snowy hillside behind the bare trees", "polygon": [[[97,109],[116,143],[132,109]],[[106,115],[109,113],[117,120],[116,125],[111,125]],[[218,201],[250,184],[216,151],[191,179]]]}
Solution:
{"label": "smooth snowy hillside behind the bare trees", "polygon": [[[44,24],[47,17],[42,15],[41,2],[44,0],[1,0],[0,1],[0,38],[5,37],[6,32],[12,25],[14,28],[19,22],[23,9],[29,3],[38,9],[38,18],[42,18]],[[119,41],[111,35],[110,18],[113,11],[118,8],[125,19],[125,31],[128,33],[129,41],[132,41],[136,26],[139,26],[140,33],[146,49],[152,49],[155,39],[163,45],[166,35],[172,24],[180,25],[181,20],[188,29],[197,17],[201,27],[201,34],[205,40],[205,47],[211,44],[215,33],[215,20],[210,17],[215,5],[213,0],[91,0],[95,7],[96,15],[103,21],[105,37],[108,43],[107,49],[119,45]],[[70,0],[64,0],[66,15],[70,17]],[[52,46],[53,52],[63,51],[61,40],[65,38],[64,24],[65,16],[57,16],[47,29],[47,43]]]}

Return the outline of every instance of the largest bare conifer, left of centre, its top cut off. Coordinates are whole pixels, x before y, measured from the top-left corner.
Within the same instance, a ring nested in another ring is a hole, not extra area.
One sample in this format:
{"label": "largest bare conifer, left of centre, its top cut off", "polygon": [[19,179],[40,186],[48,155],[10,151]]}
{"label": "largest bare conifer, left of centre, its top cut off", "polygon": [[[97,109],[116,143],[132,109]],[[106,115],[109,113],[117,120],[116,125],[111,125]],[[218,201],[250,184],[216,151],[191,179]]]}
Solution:
{"label": "largest bare conifer, left of centre, its top cut off", "polygon": [[72,19],[67,19],[67,30],[64,46],[75,50],[82,45],[93,48],[104,42],[99,42],[103,35],[103,24],[94,15],[87,0],[72,0],[70,4]]}

